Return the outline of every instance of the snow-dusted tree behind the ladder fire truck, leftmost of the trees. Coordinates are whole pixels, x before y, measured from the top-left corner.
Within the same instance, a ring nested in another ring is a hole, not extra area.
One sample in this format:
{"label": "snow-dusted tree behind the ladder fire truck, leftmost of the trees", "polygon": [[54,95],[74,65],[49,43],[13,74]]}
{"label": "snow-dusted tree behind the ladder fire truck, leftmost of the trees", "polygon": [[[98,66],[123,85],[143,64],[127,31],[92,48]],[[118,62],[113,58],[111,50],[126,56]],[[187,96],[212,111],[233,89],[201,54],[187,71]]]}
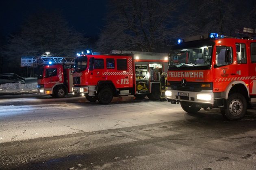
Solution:
{"label": "snow-dusted tree behind the ladder fire truck, leftmost of the trees", "polygon": [[22,24],[18,34],[10,35],[2,52],[10,66],[18,67],[22,55],[39,57],[50,52],[55,57],[73,57],[85,42],[61,13],[40,11]]}

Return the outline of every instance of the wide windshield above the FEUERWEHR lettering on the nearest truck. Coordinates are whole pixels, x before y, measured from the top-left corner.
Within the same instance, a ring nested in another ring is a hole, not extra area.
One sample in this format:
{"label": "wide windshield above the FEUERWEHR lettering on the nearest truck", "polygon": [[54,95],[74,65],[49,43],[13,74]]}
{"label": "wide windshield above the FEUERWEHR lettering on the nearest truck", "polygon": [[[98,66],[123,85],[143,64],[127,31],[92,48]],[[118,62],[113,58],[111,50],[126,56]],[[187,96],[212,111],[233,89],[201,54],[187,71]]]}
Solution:
{"label": "wide windshield above the FEUERWEHR lettering on the nearest truck", "polygon": [[169,53],[169,67],[209,66],[212,59],[212,50],[213,46],[174,49]]}

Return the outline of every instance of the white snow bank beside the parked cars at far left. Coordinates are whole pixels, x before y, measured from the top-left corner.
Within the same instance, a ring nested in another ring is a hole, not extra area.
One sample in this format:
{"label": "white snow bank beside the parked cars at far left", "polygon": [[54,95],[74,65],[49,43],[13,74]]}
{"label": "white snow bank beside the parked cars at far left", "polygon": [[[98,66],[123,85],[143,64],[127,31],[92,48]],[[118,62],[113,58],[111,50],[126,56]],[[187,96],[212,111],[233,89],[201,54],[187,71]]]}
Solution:
{"label": "white snow bank beside the parked cars at far left", "polygon": [[8,92],[24,92],[24,91],[37,91],[37,78],[25,78],[25,84],[20,83],[6,83],[0,85],[0,94]]}

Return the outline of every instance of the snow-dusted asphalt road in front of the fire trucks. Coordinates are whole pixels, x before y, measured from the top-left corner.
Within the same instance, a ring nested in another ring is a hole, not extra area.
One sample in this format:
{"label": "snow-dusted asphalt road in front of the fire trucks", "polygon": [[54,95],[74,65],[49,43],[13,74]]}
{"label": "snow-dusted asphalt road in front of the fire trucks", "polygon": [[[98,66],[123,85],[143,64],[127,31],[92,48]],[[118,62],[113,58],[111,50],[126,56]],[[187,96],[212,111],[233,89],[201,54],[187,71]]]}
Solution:
{"label": "snow-dusted asphalt road in front of the fire trucks", "polygon": [[253,170],[256,113],[226,121],[168,102],[13,96],[0,99],[0,169]]}

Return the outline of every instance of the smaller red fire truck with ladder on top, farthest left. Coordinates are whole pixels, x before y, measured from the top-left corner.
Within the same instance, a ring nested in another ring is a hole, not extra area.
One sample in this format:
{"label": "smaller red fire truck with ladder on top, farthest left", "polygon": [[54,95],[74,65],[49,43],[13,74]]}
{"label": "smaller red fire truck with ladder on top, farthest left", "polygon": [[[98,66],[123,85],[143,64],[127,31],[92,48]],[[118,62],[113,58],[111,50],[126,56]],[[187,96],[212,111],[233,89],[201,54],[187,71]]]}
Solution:
{"label": "smaller red fire truck with ladder on top, farthest left", "polygon": [[49,94],[55,98],[64,98],[72,92],[74,58],[40,57],[37,87],[40,94]]}

